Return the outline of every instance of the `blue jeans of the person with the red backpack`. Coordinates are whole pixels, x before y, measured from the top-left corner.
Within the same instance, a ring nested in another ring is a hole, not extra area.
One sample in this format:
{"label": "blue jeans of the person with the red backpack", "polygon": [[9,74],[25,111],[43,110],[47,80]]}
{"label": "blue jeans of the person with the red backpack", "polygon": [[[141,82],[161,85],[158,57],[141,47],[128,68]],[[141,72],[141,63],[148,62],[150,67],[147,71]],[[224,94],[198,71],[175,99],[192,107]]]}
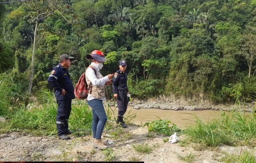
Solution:
{"label": "blue jeans of the person with the red backpack", "polygon": [[101,139],[101,135],[108,117],[106,115],[103,102],[101,99],[92,99],[87,101],[88,105],[92,107],[92,134],[93,138]]}

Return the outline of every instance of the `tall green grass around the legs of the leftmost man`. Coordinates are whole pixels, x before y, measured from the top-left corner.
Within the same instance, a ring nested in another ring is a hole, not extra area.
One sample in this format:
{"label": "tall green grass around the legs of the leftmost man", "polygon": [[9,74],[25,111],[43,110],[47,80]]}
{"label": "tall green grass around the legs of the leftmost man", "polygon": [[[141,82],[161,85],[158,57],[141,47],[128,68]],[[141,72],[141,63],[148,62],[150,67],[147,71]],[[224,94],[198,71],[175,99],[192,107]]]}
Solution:
{"label": "tall green grass around the legs of the leftmost man", "polygon": [[[55,135],[57,103],[54,94],[45,91],[46,103],[42,106],[27,109],[22,105],[14,112],[8,113],[8,119],[1,125],[5,129],[2,131],[22,131],[34,135]],[[72,110],[69,118],[69,127],[76,133],[91,133],[92,112],[85,101],[73,100]]]}

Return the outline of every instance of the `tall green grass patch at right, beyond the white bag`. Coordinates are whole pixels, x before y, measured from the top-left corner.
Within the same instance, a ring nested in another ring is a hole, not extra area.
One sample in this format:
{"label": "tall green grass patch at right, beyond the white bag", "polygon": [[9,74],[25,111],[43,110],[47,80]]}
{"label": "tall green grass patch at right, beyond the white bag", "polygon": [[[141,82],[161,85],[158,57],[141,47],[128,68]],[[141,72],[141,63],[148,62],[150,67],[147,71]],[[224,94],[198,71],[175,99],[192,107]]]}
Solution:
{"label": "tall green grass patch at right, beyond the white bag", "polygon": [[212,121],[204,122],[196,115],[195,125],[188,127],[184,133],[190,141],[203,143],[210,147],[220,144],[230,144],[235,140],[256,138],[256,115],[235,110],[225,113]]}

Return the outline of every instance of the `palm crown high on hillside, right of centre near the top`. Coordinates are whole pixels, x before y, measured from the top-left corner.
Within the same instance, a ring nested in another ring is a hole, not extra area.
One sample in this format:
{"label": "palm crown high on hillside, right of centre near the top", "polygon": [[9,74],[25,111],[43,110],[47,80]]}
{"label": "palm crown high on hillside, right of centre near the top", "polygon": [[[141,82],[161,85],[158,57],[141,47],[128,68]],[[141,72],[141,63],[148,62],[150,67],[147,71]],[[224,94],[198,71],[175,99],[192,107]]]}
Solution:
{"label": "palm crown high on hillside, right of centre near the top", "polygon": [[199,9],[194,8],[193,11],[188,12],[188,14],[184,17],[184,20],[187,21],[186,26],[188,28],[194,28],[194,23],[206,23],[207,15],[205,12],[199,13]]}

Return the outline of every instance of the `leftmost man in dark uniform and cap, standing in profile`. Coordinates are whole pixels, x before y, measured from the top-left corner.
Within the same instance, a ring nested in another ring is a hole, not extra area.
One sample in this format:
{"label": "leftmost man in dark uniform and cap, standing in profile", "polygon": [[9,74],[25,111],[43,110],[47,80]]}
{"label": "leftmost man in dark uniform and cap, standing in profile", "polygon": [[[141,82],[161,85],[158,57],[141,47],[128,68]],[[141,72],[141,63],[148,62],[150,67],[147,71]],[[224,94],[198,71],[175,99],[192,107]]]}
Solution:
{"label": "leftmost man in dark uniform and cap, standing in profile", "polygon": [[67,68],[71,66],[70,59],[74,57],[68,54],[60,56],[60,63],[52,69],[48,77],[48,83],[54,88],[54,94],[58,103],[56,125],[59,139],[70,139],[69,134],[73,133],[68,129],[68,118],[71,111],[71,101],[75,98],[74,86],[70,79]]}

